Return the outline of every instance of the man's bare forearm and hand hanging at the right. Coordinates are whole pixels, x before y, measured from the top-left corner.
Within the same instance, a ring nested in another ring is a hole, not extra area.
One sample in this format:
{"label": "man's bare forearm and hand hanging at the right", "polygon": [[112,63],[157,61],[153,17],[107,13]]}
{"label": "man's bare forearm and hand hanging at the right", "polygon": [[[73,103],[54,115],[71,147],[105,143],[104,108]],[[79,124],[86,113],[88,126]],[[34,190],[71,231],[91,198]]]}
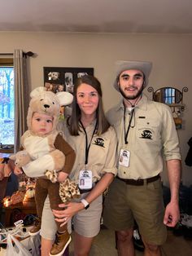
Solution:
{"label": "man's bare forearm and hand hanging at the right", "polygon": [[168,180],[171,191],[171,201],[166,206],[164,224],[168,227],[175,227],[179,218],[179,184],[181,180],[181,161],[172,159],[166,161],[168,169]]}

